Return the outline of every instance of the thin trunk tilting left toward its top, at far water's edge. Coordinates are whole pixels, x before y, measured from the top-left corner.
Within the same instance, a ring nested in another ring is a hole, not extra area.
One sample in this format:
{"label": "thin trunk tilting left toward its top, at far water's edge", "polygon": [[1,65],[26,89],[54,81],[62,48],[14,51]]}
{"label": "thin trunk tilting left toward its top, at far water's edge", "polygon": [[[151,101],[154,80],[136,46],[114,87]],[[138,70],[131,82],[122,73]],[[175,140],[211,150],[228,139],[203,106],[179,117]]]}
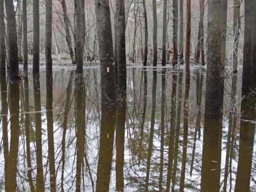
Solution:
{"label": "thin trunk tilting left toward its top, at far water's edge", "polygon": [[69,20],[69,16],[67,13],[66,0],[62,0],[61,5],[62,5],[62,9],[63,9],[63,20],[64,20],[64,25],[65,25],[65,30],[66,30],[66,41],[67,41],[67,45],[69,48],[69,55],[70,55],[72,63],[75,64],[76,60],[75,60],[75,55],[74,55],[74,52],[72,49],[72,41],[71,41],[70,30],[69,30],[70,20]]}

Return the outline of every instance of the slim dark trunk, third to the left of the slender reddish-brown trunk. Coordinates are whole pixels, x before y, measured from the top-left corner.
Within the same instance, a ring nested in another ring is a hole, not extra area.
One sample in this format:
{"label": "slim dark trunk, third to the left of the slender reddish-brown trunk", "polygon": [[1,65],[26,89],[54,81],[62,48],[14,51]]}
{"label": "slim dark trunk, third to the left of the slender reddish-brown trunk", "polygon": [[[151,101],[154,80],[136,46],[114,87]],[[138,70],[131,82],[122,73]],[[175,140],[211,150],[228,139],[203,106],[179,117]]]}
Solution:
{"label": "slim dark trunk, third to the left of the slender reddish-brown trunk", "polygon": [[167,0],[163,1],[163,47],[162,66],[166,66],[166,32],[167,32]]}

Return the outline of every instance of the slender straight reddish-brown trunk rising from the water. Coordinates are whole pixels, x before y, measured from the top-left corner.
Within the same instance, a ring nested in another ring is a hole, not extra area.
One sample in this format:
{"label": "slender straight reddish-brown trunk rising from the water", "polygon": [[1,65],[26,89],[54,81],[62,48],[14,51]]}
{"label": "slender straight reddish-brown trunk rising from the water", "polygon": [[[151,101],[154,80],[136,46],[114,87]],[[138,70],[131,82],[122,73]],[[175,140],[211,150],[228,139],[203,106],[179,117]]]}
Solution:
{"label": "slender straight reddish-brown trunk rising from the water", "polygon": [[190,54],[190,33],[191,33],[191,1],[187,0],[187,21],[186,21],[186,50],[185,50],[185,64],[186,64],[186,78],[190,78],[189,72],[189,54]]}

